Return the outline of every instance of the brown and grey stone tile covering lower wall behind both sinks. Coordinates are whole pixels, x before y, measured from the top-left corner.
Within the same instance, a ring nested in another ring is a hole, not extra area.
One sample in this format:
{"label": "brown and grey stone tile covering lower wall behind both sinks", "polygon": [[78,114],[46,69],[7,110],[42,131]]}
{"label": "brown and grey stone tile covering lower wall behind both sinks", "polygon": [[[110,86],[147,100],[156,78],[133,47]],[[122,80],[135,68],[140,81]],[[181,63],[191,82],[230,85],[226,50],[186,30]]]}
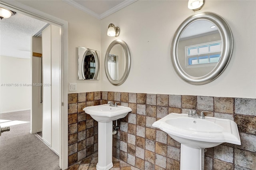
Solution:
{"label": "brown and grey stone tile covering lower wall behind both sinks", "polygon": [[[120,131],[113,136],[113,156],[132,166],[142,170],[178,170],[180,166],[180,144],[162,130],[152,127],[152,123],[169,113],[187,113],[184,109],[196,109],[197,113],[207,111],[206,116],[235,121],[238,124],[242,142],[241,146],[224,143],[214,148],[207,148],[205,170],[256,169],[256,99],[106,91],[94,92],[94,95],[95,93],[101,93],[102,104],[107,103],[107,101],[118,101],[121,105],[132,108],[132,113],[118,121]],[[80,96],[81,94],[78,93],[77,95]],[[100,104],[98,98],[92,99],[89,97],[90,101],[87,101],[87,94],[86,106],[92,105],[92,103],[93,105]],[[69,94],[69,99],[73,95],[76,96],[75,94]],[[95,103],[95,101],[98,102]],[[87,102],[92,103],[87,105]],[[78,111],[73,114],[77,114],[79,117],[80,114],[84,114],[79,112],[85,105],[79,104],[79,100],[74,101],[74,103],[77,104]],[[69,105],[70,109],[71,106]],[[76,123],[69,122],[69,124]],[[94,121],[94,138],[97,136],[95,130],[96,122]],[[72,134],[79,134],[79,132],[77,130],[75,133],[70,133],[69,128],[69,136]],[[76,143],[78,145],[79,142],[76,141],[74,144]],[[69,142],[69,148],[72,148],[72,144],[73,142]],[[95,151],[97,150],[96,145],[95,140]],[[88,145],[88,147],[92,147],[92,145]],[[74,162],[70,159],[75,156],[77,160],[82,159],[79,155],[87,156],[86,150],[87,148],[84,149],[85,153],[79,154],[81,150],[70,149],[69,151],[72,152],[69,152],[69,163]]]}

